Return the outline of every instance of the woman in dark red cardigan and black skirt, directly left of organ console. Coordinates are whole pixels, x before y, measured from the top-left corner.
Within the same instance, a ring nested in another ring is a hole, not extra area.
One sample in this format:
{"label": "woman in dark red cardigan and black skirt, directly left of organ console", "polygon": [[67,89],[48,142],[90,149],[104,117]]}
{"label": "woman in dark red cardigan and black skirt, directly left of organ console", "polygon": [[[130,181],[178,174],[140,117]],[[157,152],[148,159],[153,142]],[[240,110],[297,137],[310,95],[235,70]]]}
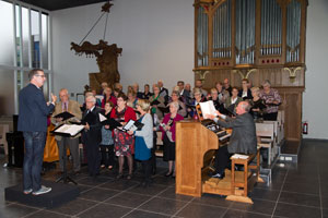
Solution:
{"label": "woman in dark red cardigan and black skirt, directly left of organ console", "polygon": [[175,160],[175,123],[179,120],[184,120],[184,117],[178,114],[179,104],[173,101],[169,105],[169,113],[167,113],[163,122],[161,123],[161,130],[163,132],[162,140],[164,145],[164,161],[168,161],[168,172],[165,177],[175,177],[175,169],[173,164]]}

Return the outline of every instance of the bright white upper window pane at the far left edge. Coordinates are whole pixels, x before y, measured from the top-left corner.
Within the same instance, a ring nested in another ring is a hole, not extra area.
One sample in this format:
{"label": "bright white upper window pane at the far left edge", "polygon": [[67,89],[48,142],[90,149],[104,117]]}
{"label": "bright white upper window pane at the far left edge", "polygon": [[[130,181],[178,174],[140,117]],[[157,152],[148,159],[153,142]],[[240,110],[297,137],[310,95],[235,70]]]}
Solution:
{"label": "bright white upper window pane at the far left edge", "polygon": [[13,65],[13,11],[12,3],[0,0],[0,64]]}

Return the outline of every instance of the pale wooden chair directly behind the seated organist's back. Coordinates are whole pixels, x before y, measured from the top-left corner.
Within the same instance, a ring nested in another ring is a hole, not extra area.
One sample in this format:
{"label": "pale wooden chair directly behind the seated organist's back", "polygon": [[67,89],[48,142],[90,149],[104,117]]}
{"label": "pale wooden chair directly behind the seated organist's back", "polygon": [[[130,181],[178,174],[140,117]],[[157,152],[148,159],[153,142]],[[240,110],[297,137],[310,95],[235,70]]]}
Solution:
{"label": "pale wooden chair directly behind the seated organist's back", "polygon": [[256,123],[256,135],[258,137],[258,146],[268,149],[268,165],[273,161],[272,154],[274,143],[274,126],[270,123]]}

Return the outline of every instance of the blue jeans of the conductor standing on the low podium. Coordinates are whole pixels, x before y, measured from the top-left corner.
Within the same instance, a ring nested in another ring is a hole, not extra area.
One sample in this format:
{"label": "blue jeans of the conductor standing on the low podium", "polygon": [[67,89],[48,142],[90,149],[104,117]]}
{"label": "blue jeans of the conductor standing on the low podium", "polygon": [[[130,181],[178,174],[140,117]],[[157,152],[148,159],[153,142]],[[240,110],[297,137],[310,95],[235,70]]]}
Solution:
{"label": "blue jeans of the conductor standing on the low podium", "polygon": [[40,189],[40,171],[44,160],[46,132],[23,132],[25,155],[23,166],[23,187],[34,192]]}

